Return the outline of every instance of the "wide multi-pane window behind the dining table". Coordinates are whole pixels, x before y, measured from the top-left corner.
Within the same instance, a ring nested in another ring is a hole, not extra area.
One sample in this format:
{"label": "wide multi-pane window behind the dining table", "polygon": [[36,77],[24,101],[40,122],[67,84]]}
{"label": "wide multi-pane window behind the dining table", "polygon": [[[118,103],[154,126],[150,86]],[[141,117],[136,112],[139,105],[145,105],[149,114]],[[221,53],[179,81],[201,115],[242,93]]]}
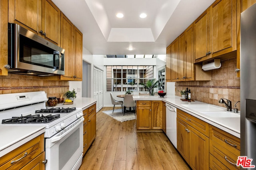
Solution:
{"label": "wide multi-pane window behind the dining table", "polygon": [[154,66],[106,66],[107,92],[144,92],[143,84],[153,78]]}

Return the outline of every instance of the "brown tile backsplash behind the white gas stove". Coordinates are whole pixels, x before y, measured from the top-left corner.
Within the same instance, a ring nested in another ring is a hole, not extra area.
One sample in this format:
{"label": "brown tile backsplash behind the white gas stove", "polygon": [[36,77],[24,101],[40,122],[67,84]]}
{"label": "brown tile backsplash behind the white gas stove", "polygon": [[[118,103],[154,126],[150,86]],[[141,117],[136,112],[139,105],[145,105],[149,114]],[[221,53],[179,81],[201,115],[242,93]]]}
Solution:
{"label": "brown tile backsplash behind the white gas stove", "polygon": [[45,91],[47,97],[61,94],[69,90],[68,81],[40,80],[39,76],[9,74],[0,76],[0,94]]}

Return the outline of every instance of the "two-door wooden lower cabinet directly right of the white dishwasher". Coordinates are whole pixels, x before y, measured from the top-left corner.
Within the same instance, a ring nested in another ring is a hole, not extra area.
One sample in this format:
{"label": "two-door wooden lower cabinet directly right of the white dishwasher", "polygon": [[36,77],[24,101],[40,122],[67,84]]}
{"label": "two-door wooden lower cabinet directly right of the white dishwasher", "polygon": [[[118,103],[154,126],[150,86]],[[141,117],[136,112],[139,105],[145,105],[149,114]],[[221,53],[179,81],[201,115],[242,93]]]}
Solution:
{"label": "two-door wooden lower cabinet directly right of the white dishwasher", "polygon": [[209,169],[209,124],[177,109],[177,150],[193,170]]}

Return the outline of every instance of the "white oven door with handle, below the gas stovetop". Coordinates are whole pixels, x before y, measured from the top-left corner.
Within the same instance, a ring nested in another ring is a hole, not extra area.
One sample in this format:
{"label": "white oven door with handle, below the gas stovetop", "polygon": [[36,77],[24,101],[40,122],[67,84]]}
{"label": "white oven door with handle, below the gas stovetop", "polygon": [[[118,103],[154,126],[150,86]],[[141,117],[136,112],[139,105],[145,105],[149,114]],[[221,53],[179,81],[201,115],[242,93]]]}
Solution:
{"label": "white oven door with handle, below the gas stovetop", "polygon": [[46,170],[78,169],[82,162],[84,117],[45,139]]}

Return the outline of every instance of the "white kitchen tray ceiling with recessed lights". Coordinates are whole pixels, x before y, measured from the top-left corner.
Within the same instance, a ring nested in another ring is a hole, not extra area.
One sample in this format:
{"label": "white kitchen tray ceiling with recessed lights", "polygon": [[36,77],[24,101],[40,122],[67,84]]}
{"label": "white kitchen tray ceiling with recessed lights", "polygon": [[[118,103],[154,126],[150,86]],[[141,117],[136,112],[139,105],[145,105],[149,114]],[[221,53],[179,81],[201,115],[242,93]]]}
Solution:
{"label": "white kitchen tray ceiling with recessed lights", "polygon": [[[163,55],[214,0],[52,0],[93,55]],[[116,18],[117,13],[124,18]],[[139,18],[141,13],[147,17]],[[127,48],[133,47],[133,51]]]}

